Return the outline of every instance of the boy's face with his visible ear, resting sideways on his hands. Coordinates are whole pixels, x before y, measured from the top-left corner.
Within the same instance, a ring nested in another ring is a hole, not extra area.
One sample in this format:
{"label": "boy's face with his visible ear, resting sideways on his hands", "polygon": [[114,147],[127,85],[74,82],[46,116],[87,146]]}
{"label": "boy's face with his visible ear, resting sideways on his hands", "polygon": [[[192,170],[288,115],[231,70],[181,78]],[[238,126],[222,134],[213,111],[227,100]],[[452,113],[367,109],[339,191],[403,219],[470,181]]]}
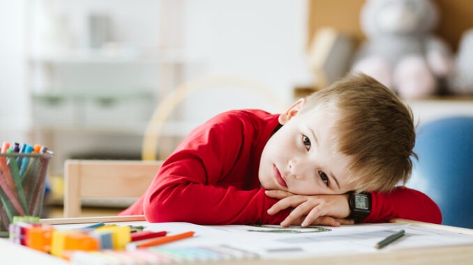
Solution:
{"label": "boy's face with his visible ear, resting sideways on his hands", "polygon": [[336,116],[327,108],[299,113],[303,102],[279,116],[284,126],[264,146],[259,170],[262,187],[299,195],[352,191],[348,170],[352,160],[335,148]]}

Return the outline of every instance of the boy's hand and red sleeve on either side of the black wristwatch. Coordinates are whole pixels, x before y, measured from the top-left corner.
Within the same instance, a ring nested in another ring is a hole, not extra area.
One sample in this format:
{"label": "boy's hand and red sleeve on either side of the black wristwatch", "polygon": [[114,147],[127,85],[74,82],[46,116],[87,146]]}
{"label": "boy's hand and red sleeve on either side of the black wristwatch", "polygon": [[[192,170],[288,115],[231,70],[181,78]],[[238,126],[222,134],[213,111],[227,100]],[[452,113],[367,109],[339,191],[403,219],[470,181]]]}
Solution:
{"label": "boy's hand and red sleeve on either side of the black wristwatch", "polygon": [[[320,217],[347,218],[350,214],[348,196],[342,195],[294,195],[285,191],[267,191],[266,195],[280,199],[269,209],[276,214],[283,209],[292,209],[281,223],[283,226],[320,224]],[[405,186],[398,186],[390,193],[372,192],[370,215],[363,223],[387,222],[392,218],[405,218],[428,223],[441,223],[440,209],[427,195]],[[330,225],[330,223],[328,223]],[[335,223],[338,225],[337,223]]]}

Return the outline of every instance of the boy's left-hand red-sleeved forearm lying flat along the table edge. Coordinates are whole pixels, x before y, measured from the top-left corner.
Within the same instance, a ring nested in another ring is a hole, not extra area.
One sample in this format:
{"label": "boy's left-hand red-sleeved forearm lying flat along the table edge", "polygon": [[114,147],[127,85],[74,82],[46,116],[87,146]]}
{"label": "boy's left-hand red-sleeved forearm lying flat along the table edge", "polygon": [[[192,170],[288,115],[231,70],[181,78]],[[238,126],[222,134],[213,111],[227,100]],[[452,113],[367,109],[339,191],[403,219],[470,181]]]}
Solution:
{"label": "boy's left-hand red-sleeved forearm lying flat along the table edge", "polygon": [[267,209],[277,200],[267,198],[262,188],[239,191],[188,183],[151,191],[144,200],[144,214],[150,222],[189,222],[202,225],[278,224],[285,216]]}

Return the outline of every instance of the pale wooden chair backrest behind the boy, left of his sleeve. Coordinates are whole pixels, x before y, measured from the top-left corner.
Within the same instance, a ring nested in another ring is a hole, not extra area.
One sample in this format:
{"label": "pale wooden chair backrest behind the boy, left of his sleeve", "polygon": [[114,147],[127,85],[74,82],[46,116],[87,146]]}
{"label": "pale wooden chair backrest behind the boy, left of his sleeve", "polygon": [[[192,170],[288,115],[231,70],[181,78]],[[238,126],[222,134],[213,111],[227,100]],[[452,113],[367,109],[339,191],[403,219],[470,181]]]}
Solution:
{"label": "pale wooden chair backrest behind the boy, left of his sleeve", "polygon": [[79,217],[82,198],[138,198],[163,161],[66,160],[64,217]]}

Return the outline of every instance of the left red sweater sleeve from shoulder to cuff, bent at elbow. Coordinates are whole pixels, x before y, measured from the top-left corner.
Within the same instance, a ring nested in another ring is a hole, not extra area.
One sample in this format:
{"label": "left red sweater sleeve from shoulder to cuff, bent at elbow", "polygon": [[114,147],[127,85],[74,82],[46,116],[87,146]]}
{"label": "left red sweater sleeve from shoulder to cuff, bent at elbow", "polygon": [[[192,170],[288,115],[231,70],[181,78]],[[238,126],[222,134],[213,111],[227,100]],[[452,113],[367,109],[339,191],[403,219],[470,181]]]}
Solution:
{"label": "left red sweater sleeve from shoulder to cuff, bent at elbow", "polygon": [[287,216],[288,211],[276,216],[266,213],[277,200],[266,197],[263,188],[237,188],[254,181],[229,173],[245,166],[238,161],[240,156],[250,156],[245,150],[248,139],[244,122],[224,118],[197,127],[163,163],[144,196],[144,215],[149,222],[274,224]]}

